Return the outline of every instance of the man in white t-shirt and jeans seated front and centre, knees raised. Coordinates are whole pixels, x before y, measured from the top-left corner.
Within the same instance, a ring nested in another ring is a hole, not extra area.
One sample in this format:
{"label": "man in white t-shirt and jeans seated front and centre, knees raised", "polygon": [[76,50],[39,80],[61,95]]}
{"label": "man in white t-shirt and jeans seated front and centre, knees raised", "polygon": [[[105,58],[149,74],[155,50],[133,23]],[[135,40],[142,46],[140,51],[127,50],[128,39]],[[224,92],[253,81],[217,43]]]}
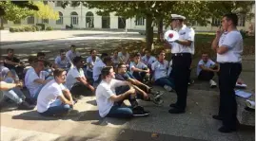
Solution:
{"label": "man in white t-shirt and jeans seated front and centre, knees raised", "polygon": [[[96,102],[101,117],[129,118],[132,116],[146,116],[148,112],[143,107],[138,106],[135,99],[135,89],[129,87],[125,92],[115,92],[115,88],[122,85],[129,85],[127,81],[114,79],[113,67],[106,66],[101,71],[102,81],[96,89]],[[130,107],[121,107],[125,99],[128,99]]]}

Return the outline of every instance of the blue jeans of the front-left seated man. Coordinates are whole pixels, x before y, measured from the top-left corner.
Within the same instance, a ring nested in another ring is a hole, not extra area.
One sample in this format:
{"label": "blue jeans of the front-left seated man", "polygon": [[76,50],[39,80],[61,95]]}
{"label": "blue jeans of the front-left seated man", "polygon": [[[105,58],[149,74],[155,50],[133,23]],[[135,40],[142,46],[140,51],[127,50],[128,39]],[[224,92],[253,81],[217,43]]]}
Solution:
{"label": "blue jeans of the front-left seated man", "polygon": [[40,113],[40,115],[44,116],[54,116],[54,115],[65,115],[69,113],[69,110],[72,108],[69,104],[63,104],[60,99],[56,99],[53,103],[51,103],[49,109],[44,112]]}

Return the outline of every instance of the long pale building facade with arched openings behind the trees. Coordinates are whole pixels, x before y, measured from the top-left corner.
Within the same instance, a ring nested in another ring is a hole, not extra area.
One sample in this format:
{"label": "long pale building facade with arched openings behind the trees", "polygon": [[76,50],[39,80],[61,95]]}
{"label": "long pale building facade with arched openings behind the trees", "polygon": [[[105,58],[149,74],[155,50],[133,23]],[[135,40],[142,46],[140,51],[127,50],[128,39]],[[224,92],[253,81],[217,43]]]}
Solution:
{"label": "long pale building facade with arched openings behind the trees", "polygon": [[[99,16],[96,14],[98,9],[88,9],[82,4],[78,7],[67,6],[66,9],[61,8],[62,1],[57,1],[55,3],[45,1],[55,11],[59,12],[59,20],[49,20],[49,19],[37,19],[35,17],[28,17],[20,22],[13,23],[11,21],[5,21],[4,26],[20,26],[20,25],[36,25],[36,24],[47,24],[52,26],[54,29],[65,29],[66,26],[72,25],[74,28],[127,28],[133,30],[145,30],[146,29],[146,19],[144,18],[130,18],[125,19],[122,17],[115,16],[114,12],[106,16]],[[255,5],[252,8],[252,12],[255,13]],[[195,25],[193,28],[196,31],[215,31],[218,26],[221,25],[221,19],[209,19],[211,24],[207,26]],[[245,17],[239,18],[238,29],[244,29],[246,31],[253,30],[255,27],[255,19],[246,20]],[[164,29],[166,27],[164,26]],[[157,27],[154,27],[157,30]]]}

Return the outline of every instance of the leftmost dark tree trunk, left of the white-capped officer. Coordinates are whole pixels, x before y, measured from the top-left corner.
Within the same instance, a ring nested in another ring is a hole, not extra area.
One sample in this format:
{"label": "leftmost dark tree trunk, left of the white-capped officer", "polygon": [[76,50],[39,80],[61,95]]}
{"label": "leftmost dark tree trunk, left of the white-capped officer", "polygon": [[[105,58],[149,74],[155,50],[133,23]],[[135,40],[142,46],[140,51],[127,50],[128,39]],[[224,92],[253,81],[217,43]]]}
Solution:
{"label": "leftmost dark tree trunk, left of the white-capped officer", "polygon": [[153,18],[151,14],[146,15],[146,44],[147,49],[151,50],[151,45],[153,44],[153,26],[152,26]]}

